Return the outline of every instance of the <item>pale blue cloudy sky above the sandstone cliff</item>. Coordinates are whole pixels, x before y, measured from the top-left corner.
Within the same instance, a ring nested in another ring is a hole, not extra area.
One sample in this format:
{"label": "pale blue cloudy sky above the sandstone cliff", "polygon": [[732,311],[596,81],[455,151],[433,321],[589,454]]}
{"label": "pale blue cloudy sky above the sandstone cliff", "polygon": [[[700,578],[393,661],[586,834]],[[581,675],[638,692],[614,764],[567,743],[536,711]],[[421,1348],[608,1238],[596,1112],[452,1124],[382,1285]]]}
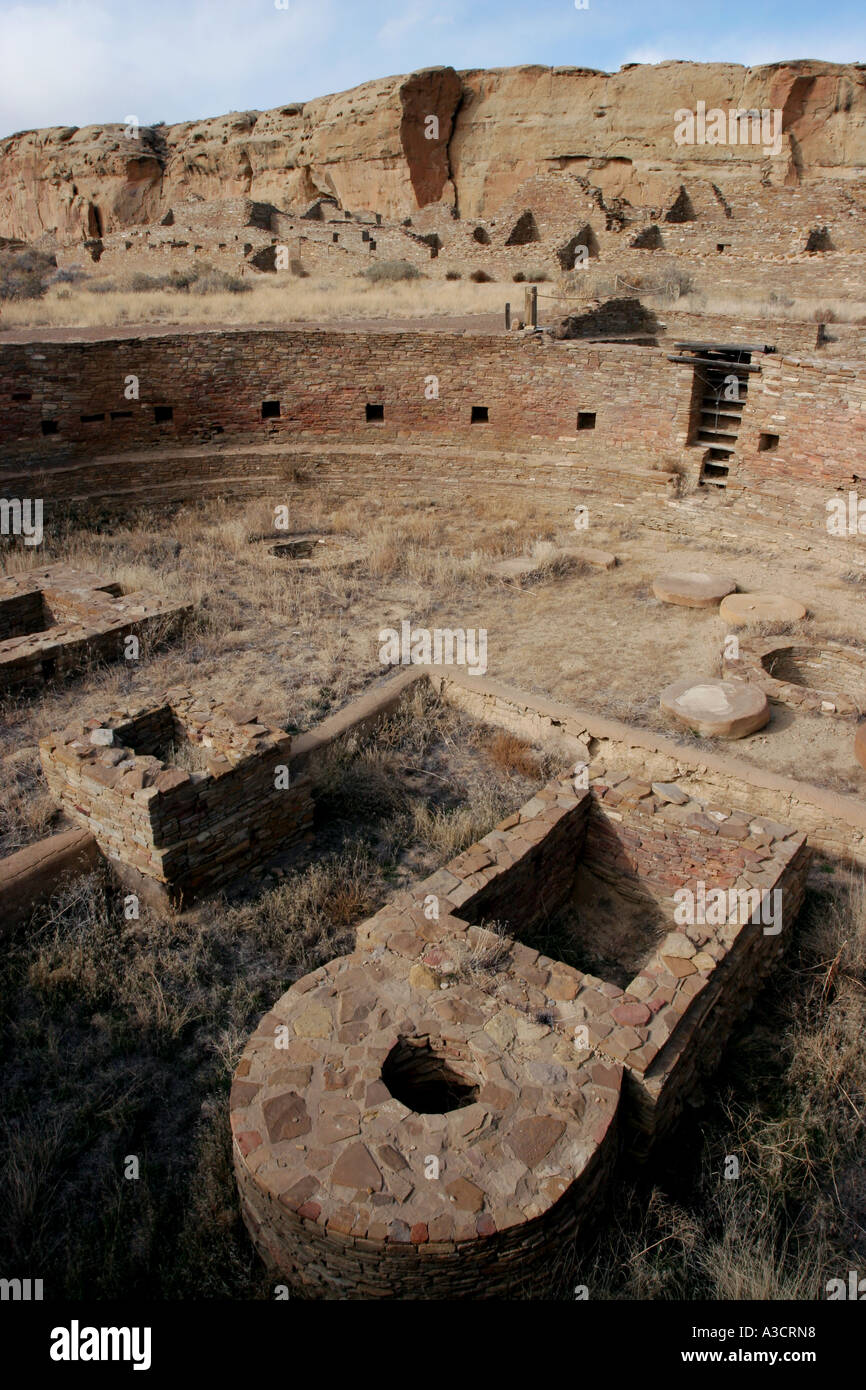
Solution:
{"label": "pale blue cloudy sky above the sandstone cliff", "polygon": [[664,58],[866,61],[866,3],[0,0],[0,135],[267,110],[438,64]]}

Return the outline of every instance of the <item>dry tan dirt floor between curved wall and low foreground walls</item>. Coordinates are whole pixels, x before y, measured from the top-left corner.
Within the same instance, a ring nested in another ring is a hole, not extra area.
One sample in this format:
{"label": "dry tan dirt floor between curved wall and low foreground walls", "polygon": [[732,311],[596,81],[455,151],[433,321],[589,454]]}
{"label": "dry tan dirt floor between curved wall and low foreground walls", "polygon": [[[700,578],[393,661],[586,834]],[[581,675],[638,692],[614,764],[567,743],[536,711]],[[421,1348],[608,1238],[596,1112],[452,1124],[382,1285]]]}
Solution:
{"label": "dry tan dirt floor between curved wall and low foreground walls", "polygon": [[[10,570],[67,559],[117,580],[192,598],[197,616],[179,642],[138,669],[101,666],[0,708],[0,848],[6,852],[58,824],[38,769],[38,738],[74,717],[90,717],[121,695],[172,684],[260,703],[263,717],[291,731],[313,727],[353,695],[388,676],[379,631],[417,627],[487,630],[487,674],[580,709],[695,739],[671,728],[659,694],[680,677],[720,673],[726,624],[714,610],[659,602],[652,580],[670,569],[710,569],[744,591],[796,595],[808,617],[796,631],[866,646],[862,585],[827,573],[823,560],[792,553],[784,535],[726,534],[712,545],[644,524],[638,509],[599,509],[585,535],[616,553],[616,569],[542,567],[524,588],[492,574],[503,556],[544,557],[545,546],[577,542],[556,510],[531,492],[411,503],[377,496],[349,502],[300,486],[286,535],[314,537],[307,559],[275,557],[268,505],[177,506],[145,516],[78,514],[39,550],[6,552]],[[553,520],[552,520],[553,517]],[[657,521],[656,521],[657,524]],[[541,550],[539,550],[541,548]],[[866,687],[866,681],[865,681]],[[756,766],[837,791],[866,794],[852,756],[849,720],[773,705],[769,726],[726,744]],[[709,745],[713,746],[712,741]]]}

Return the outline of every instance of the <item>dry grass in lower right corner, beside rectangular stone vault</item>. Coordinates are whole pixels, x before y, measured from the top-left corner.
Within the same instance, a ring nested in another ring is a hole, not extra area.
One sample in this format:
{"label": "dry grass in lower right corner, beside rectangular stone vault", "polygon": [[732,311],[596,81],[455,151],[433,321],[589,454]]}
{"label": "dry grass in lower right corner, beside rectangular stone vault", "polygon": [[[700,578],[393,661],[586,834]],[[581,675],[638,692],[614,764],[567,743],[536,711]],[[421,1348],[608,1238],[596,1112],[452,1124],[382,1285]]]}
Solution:
{"label": "dry grass in lower right corner, beside rectangular stone vault", "polygon": [[[849,876],[810,890],[713,1101],[662,1155],[660,1182],[617,1193],[569,1277],[592,1298],[813,1300],[862,1266],[865,1027],[866,880]],[[687,1150],[701,1154],[691,1173]]]}

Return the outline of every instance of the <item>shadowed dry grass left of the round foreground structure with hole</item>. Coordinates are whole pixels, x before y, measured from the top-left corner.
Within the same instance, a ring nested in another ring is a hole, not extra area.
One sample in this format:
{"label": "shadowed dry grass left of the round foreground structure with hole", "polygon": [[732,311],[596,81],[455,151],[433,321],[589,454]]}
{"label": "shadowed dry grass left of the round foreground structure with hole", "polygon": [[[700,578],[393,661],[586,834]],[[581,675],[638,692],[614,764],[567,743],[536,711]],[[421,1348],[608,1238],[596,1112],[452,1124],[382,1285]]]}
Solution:
{"label": "shadowed dry grass left of the round foreground structure with hole", "polygon": [[38,1270],[50,1297],[272,1295],[238,1212],[232,1072],[292,980],[350,951],[391,891],[531,794],[473,731],[416,689],[378,738],[329,751],[316,855],[275,884],[126,922],[100,872],[4,941],[4,1268]]}

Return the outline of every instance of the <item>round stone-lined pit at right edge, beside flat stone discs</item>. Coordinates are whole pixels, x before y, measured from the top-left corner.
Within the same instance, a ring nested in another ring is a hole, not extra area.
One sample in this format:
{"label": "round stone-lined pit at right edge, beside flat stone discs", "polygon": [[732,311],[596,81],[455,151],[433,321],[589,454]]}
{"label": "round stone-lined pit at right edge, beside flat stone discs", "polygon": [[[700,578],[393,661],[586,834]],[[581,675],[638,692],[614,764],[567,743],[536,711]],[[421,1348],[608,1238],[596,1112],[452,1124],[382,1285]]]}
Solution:
{"label": "round stone-lined pit at right edge, beside flat stone discs", "polygon": [[741,638],[740,657],[726,659],[724,669],[792,709],[841,717],[866,713],[866,652],[855,646]]}

